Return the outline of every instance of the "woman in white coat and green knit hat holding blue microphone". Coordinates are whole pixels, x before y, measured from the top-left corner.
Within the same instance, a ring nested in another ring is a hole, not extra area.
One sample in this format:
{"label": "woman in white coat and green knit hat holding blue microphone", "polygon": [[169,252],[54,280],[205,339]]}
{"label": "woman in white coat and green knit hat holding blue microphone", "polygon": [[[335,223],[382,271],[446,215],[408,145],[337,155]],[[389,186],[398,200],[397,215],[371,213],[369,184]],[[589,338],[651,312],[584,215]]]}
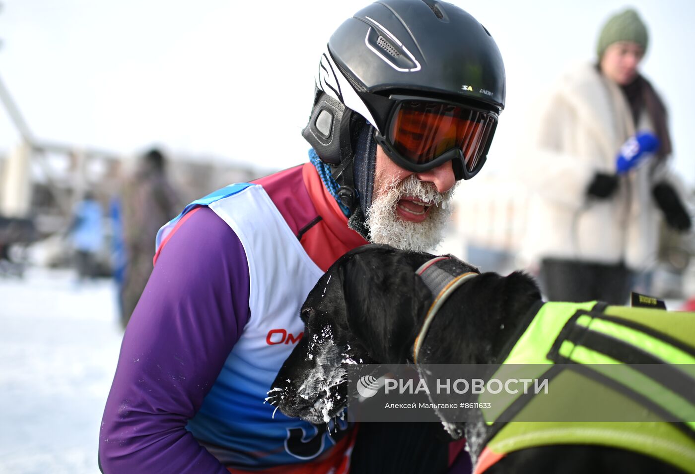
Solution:
{"label": "woman in white coat and green knit hat holding blue microphone", "polygon": [[639,74],[646,25],[628,8],[607,20],[597,60],[574,67],[528,122],[520,173],[532,192],[522,246],[555,301],[623,304],[655,260],[662,219],[691,219],[667,167],[667,110]]}

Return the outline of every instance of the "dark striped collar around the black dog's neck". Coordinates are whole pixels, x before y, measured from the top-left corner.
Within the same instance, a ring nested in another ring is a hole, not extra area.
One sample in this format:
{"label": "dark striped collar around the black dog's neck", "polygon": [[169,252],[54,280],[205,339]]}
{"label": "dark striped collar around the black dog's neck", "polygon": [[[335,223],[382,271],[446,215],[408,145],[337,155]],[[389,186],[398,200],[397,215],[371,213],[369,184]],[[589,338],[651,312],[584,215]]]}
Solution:
{"label": "dark striped collar around the black dog's neck", "polygon": [[430,329],[430,325],[434,320],[434,316],[439,311],[439,308],[441,308],[455,289],[474,276],[480,275],[480,272],[475,271],[459,273],[457,270],[460,271],[463,265],[464,262],[453,257],[440,256],[427,260],[427,262],[416,270],[415,273],[423,279],[425,285],[427,285],[430,291],[432,291],[432,294],[436,296],[434,297],[434,301],[432,301],[432,305],[430,305],[430,309],[427,310],[427,315],[425,316],[425,321],[423,321],[422,328],[420,328],[418,337],[415,338],[415,343],[413,345],[413,362],[418,362],[420,348],[423,345],[427,330]]}

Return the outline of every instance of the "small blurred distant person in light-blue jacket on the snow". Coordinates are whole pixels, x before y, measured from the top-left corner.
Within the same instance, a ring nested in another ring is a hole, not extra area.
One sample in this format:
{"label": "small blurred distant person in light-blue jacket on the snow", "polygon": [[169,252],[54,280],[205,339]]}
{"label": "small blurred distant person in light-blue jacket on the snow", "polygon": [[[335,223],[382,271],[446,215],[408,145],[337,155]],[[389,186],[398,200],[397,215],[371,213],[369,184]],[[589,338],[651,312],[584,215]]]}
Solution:
{"label": "small blurred distant person in light-blue jacket on the snow", "polygon": [[70,235],[75,250],[75,266],[79,281],[97,276],[97,254],[104,244],[104,223],[101,204],[91,191],[75,204]]}

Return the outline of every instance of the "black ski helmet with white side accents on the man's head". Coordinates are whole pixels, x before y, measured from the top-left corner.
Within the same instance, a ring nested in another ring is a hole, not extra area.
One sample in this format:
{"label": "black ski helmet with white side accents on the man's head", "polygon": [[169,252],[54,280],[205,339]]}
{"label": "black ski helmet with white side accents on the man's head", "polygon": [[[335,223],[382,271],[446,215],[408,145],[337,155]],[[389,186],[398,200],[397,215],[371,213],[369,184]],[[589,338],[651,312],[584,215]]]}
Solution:
{"label": "black ski helmet with white side accents on the man's head", "polygon": [[436,0],[379,0],[330,38],[302,135],[323,162],[341,165],[334,176],[347,170],[348,180],[338,183],[350,194],[355,135],[364,120],[384,133],[390,94],[430,96],[499,113],[505,89],[497,44],[467,12]]}

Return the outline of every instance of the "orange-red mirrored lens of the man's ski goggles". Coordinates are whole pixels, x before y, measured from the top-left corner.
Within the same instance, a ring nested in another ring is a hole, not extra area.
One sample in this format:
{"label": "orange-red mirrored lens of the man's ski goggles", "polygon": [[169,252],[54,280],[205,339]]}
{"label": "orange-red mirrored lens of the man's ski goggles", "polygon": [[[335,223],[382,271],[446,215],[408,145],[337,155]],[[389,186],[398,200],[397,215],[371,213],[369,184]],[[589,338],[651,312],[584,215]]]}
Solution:
{"label": "orange-red mirrored lens of the man's ski goggles", "polygon": [[403,158],[425,164],[451,149],[460,149],[473,171],[486,148],[496,117],[461,105],[404,101],[391,120],[393,147]]}

